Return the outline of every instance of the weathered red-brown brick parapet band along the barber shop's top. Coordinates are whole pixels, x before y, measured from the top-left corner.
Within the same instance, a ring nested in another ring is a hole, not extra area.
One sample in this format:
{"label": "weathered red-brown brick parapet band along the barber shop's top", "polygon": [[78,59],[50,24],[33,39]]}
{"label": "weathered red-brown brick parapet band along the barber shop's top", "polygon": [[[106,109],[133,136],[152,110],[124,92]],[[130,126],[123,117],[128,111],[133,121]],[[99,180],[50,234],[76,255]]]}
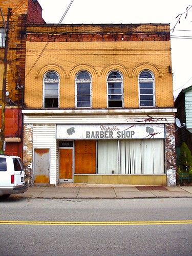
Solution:
{"label": "weathered red-brown brick parapet band along the barber shop's top", "polygon": [[[55,32],[56,31],[56,32]],[[54,35],[52,35],[54,33]],[[132,24],[61,24],[33,26],[27,29],[29,41],[169,41],[168,25]]]}

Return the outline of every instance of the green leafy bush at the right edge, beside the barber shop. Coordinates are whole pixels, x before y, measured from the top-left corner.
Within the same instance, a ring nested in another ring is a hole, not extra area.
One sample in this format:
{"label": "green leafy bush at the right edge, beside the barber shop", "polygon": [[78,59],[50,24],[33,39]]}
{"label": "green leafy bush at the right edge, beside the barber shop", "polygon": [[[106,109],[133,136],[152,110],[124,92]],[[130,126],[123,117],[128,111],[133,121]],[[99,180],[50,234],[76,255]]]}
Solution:
{"label": "green leafy bush at the right edge, beside the barber shop", "polygon": [[182,172],[192,172],[192,156],[185,142],[183,142],[181,145],[179,168],[182,170]]}

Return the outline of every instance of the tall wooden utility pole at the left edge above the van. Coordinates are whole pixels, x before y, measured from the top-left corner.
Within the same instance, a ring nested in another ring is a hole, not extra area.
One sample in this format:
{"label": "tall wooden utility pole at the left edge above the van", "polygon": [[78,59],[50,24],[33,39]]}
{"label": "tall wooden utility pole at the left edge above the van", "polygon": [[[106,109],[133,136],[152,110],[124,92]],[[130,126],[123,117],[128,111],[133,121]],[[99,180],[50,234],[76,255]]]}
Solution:
{"label": "tall wooden utility pole at the left edge above the van", "polygon": [[1,9],[1,14],[4,22],[5,29],[5,52],[4,52],[4,75],[3,75],[3,87],[2,87],[2,119],[1,119],[1,133],[0,133],[0,154],[4,155],[4,143],[5,143],[5,106],[6,106],[6,83],[7,83],[7,54],[8,54],[8,42],[9,42],[9,18],[11,9],[8,8],[7,12],[7,26],[5,26],[4,16]]}

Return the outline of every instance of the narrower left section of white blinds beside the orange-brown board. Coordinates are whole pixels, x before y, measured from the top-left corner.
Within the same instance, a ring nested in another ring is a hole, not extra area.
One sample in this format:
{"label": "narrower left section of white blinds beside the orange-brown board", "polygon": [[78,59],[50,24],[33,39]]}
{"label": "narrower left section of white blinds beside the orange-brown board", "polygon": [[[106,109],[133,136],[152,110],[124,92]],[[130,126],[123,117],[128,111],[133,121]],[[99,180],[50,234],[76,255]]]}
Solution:
{"label": "narrower left section of white blinds beside the orange-brown board", "polygon": [[118,140],[98,140],[97,161],[98,174],[119,174]]}

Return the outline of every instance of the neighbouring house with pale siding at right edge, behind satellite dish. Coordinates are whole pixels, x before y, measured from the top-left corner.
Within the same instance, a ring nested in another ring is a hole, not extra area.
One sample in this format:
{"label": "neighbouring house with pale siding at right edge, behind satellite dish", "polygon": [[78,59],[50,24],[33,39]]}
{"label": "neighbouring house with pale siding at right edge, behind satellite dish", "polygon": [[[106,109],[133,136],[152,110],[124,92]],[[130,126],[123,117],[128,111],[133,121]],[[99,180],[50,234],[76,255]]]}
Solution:
{"label": "neighbouring house with pale siding at right edge, behind satellite dish", "polygon": [[178,160],[182,142],[187,144],[192,153],[192,86],[183,89],[179,93],[175,100],[175,108],[177,109],[176,118],[181,122],[181,127],[176,127],[175,132]]}

